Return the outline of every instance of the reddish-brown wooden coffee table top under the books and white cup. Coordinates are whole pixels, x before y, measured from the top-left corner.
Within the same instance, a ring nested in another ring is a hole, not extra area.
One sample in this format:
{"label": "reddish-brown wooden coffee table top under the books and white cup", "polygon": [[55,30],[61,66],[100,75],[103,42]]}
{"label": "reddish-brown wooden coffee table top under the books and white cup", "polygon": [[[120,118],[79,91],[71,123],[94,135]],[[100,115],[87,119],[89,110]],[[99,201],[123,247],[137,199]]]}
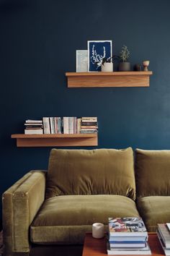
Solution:
{"label": "reddish-brown wooden coffee table top under the books and white cup", "polygon": [[[158,241],[158,237],[156,233],[149,233],[148,235],[149,235],[148,242],[151,247],[152,256],[164,255],[164,251],[161,248],[161,244]],[[104,236],[104,238],[102,239],[94,239],[90,233],[87,233],[84,239],[84,249],[83,249],[82,256],[103,256],[103,255],[107,255],[106,236]]]}

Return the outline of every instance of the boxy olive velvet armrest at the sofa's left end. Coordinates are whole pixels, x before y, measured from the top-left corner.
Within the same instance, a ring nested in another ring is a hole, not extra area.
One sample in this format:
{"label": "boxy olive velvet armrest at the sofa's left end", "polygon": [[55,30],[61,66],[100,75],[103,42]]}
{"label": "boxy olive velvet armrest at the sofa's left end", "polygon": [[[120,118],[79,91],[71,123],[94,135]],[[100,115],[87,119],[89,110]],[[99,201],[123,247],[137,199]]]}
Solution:
{"label": "boxy olive velvet armrest at the sofa's left end", "polygon": [[2,204],[5,255],[30,251],[30,224],[45,200],[46,173],[30,171],[4,192]]}

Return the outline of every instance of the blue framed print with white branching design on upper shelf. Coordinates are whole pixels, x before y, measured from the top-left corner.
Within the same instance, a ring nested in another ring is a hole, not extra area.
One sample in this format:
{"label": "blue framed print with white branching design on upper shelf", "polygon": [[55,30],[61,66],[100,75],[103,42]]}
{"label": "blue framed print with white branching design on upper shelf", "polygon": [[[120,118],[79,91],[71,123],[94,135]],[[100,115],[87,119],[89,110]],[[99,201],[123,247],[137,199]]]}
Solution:
{"label": "blue framed print with white branching design on upper shelf", "polygon": [[112,56],[112,40],[89,40],[88,47],[88,71],[101,71],[102,59]]}

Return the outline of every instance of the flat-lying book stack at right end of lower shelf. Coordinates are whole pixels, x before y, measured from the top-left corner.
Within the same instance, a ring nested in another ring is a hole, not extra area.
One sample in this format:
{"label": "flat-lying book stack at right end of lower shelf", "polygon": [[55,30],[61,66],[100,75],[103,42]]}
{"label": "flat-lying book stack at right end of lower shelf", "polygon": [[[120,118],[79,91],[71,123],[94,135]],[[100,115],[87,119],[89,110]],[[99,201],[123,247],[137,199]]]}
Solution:
{"label": "flat-lying book stack at right end of lower shelf", "polygon": [[81,118],[81,133],[97,133],[98,123],[97,117]]}

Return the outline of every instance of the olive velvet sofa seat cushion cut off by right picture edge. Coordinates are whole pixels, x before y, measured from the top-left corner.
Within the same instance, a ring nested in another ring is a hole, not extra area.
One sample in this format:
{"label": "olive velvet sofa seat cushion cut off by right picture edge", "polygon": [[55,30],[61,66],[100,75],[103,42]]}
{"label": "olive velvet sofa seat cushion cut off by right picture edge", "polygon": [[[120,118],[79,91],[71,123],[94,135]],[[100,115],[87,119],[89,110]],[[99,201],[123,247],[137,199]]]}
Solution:
{"label": "olive velvet sofa seat cushion cut off by right picture edge", "polygon": [[170,197],[141,197],[137,205],[148,231],[156,231],[157,223],[170,222]]}

